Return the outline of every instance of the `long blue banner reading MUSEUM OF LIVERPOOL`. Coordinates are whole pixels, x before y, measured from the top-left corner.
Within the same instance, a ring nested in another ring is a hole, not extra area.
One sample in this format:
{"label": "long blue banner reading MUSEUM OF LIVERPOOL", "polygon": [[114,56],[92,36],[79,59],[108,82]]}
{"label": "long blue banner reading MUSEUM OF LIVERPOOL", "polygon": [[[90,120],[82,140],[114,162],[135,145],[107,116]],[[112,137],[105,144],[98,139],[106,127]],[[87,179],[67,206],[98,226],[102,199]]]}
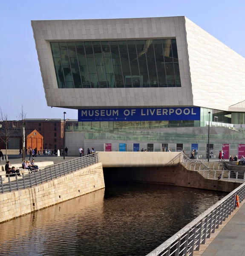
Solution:
{"label": "long blue banner reading MUSEUM OF LIVERPOOL", "polygon": [[78,109],[78,122],[200,120],[200,108]]}

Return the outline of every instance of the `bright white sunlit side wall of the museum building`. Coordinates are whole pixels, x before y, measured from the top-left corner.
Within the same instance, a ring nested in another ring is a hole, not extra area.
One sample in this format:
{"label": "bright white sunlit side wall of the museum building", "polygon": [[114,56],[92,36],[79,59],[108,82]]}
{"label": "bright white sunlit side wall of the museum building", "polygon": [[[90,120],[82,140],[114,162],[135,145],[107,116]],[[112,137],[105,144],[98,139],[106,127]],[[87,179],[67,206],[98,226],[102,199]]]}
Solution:
{"label": "bright white sunlit side wall of the museum building", "polygon": [[191,20],[184,20],[193,105],[228,110],[245,100],[245,58]]}

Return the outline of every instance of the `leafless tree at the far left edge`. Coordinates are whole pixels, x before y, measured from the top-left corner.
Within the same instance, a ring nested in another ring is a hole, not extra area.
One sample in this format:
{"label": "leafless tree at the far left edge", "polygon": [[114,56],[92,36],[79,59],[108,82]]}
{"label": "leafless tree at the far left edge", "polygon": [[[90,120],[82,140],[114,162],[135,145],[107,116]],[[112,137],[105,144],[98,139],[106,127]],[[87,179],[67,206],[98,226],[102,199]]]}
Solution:
{"label": "leafless tree at the far left edge", "polygon": [[6,162],[8,161],[8,142],[13,134],[13,122],[9,120],[9,116],[3,113],[0,108],[0,140],[6,145]]}

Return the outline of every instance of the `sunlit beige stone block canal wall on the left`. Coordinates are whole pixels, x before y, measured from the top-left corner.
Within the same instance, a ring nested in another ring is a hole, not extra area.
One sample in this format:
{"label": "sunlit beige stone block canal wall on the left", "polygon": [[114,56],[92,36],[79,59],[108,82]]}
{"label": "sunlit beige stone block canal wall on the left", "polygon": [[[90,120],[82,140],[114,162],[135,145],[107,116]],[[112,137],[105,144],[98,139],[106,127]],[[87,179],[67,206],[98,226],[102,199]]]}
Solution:
{"label": "sunlit beige stone block canal wall on the left", "polygon": [[0,194],[0,222],[104,188],[102,164],[97,163],[33,188]]}

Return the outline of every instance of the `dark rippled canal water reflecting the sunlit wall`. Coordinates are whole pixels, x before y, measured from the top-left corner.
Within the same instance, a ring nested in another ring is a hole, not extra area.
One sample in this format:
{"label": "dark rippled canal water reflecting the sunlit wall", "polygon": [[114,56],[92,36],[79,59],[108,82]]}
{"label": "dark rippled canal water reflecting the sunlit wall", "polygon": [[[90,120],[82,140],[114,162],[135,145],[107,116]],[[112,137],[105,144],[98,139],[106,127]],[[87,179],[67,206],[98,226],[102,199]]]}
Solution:
{"label": "dark rippled canal water reflecting the sunlit wall", "polygon": [[225,194],[120,183],[0,224],[0,256],[144,256]]}

